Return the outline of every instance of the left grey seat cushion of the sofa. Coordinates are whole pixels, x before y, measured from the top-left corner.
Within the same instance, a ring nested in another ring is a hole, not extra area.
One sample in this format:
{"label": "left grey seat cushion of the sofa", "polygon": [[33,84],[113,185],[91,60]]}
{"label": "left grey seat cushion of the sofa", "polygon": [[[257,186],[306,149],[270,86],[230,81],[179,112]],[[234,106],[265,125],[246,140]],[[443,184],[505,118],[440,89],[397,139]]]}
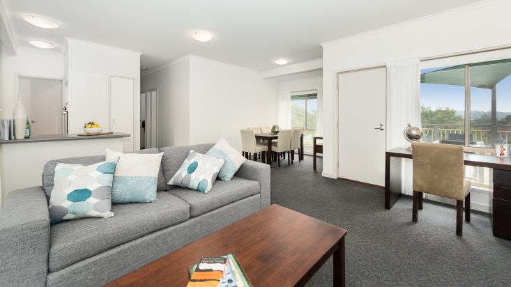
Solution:
{"label": "left grey seat cushion of the sofa", "polygon": [[49,271],[55,272],[112,247],[185,222],[190,205],[169,192],[153,203],[112,205],[114,217],[86,218],[51,227]]}

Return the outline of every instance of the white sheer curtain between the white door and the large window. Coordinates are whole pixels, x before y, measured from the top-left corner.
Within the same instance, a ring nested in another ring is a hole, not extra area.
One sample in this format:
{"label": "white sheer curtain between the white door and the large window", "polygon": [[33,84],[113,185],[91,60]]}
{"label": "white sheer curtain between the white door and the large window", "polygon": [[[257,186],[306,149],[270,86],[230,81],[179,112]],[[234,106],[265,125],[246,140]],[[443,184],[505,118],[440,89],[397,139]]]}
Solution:
{"label": "white sheer curtain between the white door and the large window", "polygon": [[[420,61],[401,59],[387,63],[387,149],[406,147],[403,137],[408,125],[420,127]],[[402,193],[411,195],[412,162],[402,166]]]}

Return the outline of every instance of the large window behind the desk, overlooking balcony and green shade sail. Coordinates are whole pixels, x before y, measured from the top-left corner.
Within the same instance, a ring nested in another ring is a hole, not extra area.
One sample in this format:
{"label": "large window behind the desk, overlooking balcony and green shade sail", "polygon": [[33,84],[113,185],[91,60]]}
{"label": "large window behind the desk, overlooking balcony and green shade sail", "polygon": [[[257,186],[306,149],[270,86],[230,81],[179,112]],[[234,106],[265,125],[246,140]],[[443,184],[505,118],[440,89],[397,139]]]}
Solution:
{"label": "large window behind the desk, overlooking balcony and green shade sail", "polygon": [[[422,70],[424,140],[474,153],[494,153],[496,143],[511,143],[510,75],[511,59]],[[465,173],[473,186],[489,187],[489,169],[466,166]]]}

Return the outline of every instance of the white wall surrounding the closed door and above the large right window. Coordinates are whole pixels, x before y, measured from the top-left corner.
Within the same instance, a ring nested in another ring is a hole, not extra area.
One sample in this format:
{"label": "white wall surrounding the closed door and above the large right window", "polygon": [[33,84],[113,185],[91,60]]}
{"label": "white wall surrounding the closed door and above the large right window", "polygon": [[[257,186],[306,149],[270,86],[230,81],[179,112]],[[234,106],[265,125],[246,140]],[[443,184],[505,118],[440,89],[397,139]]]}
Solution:
{"label": "white wall surrounding the closed door and above the large right window", "polygon": [[412,56],[509,45],[510,10],[511,1],[483,1],[323,43],[323,176],[337,178],[337,72]]}

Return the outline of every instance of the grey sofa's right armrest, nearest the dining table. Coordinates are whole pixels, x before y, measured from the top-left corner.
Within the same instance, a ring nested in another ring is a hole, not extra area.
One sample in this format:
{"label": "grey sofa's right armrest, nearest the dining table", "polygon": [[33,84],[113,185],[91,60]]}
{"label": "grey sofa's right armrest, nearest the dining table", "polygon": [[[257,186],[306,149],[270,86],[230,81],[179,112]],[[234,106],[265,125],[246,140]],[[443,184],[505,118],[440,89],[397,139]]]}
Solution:
{"label": "grey sofa's right armrest, nearest the dining table", "polygon": [[259,181],[261,209],[270,206],[270,166],[268,164],[246,160],[236,172],[236,176]]}

